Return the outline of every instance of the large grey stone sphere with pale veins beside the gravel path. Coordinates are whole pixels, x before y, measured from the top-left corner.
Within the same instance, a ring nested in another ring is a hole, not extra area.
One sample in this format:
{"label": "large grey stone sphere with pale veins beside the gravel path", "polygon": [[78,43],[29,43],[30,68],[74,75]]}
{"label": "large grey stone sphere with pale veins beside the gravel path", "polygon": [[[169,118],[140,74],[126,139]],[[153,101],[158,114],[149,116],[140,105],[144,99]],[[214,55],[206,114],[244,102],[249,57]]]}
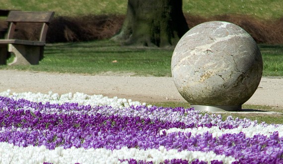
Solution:
{"label": "large grey stone sphere with pale veins beside the gravel path", "polygon": [[260,83],[263,61],[245,30],[212,21],[195,26],[180,39],[171,71],[179,93],[191,105],[241,106]]}

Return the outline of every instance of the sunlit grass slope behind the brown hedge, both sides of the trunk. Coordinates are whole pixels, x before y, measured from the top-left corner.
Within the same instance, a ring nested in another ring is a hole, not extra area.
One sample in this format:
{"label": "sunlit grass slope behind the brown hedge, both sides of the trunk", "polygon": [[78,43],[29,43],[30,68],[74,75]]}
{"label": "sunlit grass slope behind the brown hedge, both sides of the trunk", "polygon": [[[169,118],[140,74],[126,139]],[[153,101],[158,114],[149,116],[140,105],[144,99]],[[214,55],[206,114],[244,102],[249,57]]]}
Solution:
{"label": "sunlit grass slope behind the brown hedge, both sides of the trunk", "polygon": [[[3,9],[52,10],[56,15],[125,14],[128,0],[1,0]],[[283,16],[282,0],[183,0],[183,12],[200,16],[245,14],[260,19]]]}

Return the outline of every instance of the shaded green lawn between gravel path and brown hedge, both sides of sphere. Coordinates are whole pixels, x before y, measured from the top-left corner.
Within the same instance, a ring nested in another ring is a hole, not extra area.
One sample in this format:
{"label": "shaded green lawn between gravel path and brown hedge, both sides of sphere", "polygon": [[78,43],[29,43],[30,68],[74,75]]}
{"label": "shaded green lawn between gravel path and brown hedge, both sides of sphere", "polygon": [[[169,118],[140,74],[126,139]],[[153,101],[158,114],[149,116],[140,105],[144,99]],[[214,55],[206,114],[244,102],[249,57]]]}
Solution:
{"label": "shaded green lawn between gravel path and brown hedge, both sides of sphere", "polygon": [[[283,45],[260,45],[263,76],[283,76]],[[78,74],[131,73],[136,76],[171,76],[173,50],[123,47],[112,41],[47,44],[39,65],[7,66],[18,69]],[[117,60],[117,62],[113,62]],[[9,60],[11,61],[11,59]],[[8,61],[8,62],[9,62]]]}

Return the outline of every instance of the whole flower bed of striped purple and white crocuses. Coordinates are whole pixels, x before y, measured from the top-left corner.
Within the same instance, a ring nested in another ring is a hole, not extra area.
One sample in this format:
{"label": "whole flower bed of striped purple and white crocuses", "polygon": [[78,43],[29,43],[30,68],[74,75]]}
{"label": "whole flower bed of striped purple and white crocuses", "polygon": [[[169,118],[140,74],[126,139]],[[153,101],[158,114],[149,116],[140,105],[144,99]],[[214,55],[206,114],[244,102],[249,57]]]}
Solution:
{"label": "whole flower bed of striped purple and white crocuses", "polygon": [[2,164],[283,163],[283,126],[81,93],[0,93]]}

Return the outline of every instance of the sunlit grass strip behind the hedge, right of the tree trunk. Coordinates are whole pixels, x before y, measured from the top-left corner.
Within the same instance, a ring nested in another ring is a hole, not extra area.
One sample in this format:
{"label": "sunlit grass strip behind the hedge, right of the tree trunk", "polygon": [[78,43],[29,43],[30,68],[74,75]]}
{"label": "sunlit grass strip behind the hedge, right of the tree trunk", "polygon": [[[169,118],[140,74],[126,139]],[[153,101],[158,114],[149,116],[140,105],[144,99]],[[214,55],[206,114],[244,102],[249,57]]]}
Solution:
{"label": "sunlit grass strip behind the hedge, right of the tree trunk", "polygon": [[282,0],[183,0],[183,12],[210,16],[243,14],[259,19],[277,19],[283,16]]}

